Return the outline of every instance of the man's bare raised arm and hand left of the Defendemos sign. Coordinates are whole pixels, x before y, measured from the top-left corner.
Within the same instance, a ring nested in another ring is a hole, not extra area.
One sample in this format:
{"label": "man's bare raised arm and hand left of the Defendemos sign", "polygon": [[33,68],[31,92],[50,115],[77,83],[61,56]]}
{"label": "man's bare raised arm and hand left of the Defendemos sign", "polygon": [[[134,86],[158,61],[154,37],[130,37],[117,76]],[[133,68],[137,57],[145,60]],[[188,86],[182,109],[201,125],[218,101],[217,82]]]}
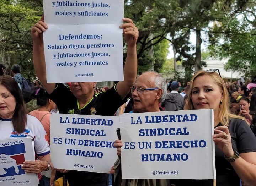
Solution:
{"label": "man's bare raised arm and hand left of the Defendemos sign", "polygon": [[33,64],[37,77],[42,82],[46,91],[51,94],[55,88],[55,83],[46,82],[46,66],[44,59],[43,32],[48,26],[44,23],[44,16],[31,28],[33,39]]}

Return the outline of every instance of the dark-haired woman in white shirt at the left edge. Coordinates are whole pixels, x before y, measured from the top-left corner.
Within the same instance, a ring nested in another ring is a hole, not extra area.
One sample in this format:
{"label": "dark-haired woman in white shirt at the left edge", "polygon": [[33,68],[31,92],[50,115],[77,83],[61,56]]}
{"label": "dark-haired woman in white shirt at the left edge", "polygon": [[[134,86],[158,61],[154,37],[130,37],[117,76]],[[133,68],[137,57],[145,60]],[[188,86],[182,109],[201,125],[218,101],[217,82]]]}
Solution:
{"label": "dark-haired woman in white shirt at the left edge", "polygon": [[[26,133],[24,132],[26,130]],[[17,135],[13,136],[15,132]],[[21,90],[11,76],[0,76],[0,138],[31,137],[39,160],[26,161],[26,173],[41,173],[50,168],[50,148],[41,123],[26,114]],[[41,175],[39,175],[41,179]]]}

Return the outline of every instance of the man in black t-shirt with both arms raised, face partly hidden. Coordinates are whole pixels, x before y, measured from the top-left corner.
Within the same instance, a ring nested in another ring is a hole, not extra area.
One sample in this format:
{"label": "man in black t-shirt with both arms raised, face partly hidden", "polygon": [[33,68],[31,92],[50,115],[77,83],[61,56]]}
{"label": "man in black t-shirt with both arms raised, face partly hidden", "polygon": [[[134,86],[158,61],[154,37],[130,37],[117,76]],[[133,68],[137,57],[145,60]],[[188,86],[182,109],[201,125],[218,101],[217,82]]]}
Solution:
{"label": "man in black t-shirt with both arms raised, face partly hidden", "polygon": [[[46,82],[46,67],[43,48],[43,32],[48,28],[42,17],[31,29],[33,38],[33,63],[37,77],[58,106],[60,113],[113,116],[115,111],[126,102],[126,96],[137,75],[136,42],[138,29],[129,18],[120,26],[127,43],[127,58],[124,67],[124,81],[118,82],[110,90],[94,93],[96,82],[72,83],[72,92],[63,84]],[[65,171],[66,172],[66,171]],[[108,174],[83,171],[68,171],[66,177],[70,186],[107,186]]]}

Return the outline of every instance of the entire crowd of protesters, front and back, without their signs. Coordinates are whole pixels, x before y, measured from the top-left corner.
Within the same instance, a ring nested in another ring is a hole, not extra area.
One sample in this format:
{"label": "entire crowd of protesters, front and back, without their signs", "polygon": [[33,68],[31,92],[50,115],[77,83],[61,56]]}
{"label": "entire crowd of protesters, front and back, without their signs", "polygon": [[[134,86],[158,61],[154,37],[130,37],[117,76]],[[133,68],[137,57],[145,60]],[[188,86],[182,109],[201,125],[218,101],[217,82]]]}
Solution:
{"label": "entire crowd of protesters, front and back, without their signs", "polygon": [[[166,83],[156,72],[136,77],[139,32],[132,20],[123,18],[123,21],[120,28],[127,43],[124,80],[111,88],[100,90],[96,88],[97,82],[47,83],[43,32],[48,26],[43,17],[31,29],[33,64],[38,77],[33,93],[36,110],[26,114],[20,66],[12,66],[11,77],[5,75],[6,68],[0,64],[0,138],[10,138],[12,132],[23,137],[26,130],[36,152],[35,160],[25,161],[21,168],[38,174],[40,186],[54,185],[63,175],[70,186],[108,186],[109,174],[55,169],[51,164],[50,114],[57,109],[64,114],[119,116],[212,108],[217,186],[239,186],[240,180],[244,185],[256,185],[256,77],[247,84],[231,84],[224,82],[217,69],[198,71],[185,88],[178,81]],[[116,186],[212,185],[212,180],[122,179],[122,146],[122,140],[115,141],[117,162],[110,168]]]}

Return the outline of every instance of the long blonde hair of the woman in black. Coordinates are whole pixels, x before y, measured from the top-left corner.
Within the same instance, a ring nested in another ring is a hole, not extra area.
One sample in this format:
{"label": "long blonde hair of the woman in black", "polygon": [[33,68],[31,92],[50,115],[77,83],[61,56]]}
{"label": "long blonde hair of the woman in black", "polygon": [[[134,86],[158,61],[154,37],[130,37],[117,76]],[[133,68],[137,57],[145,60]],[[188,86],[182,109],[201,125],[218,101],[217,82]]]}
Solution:
{"label": "long blonde hair of the woman in black", "polygon": [[226,89],[225,82],[223,79],[219,76],[218,73],[215,72],[206,72],[206,71],[198,71],[192,78],[190,82],[190,89],[188,92],[188,108],[189,110],[194,109],[194,105],[191,99],[192,95],[192,88],[193,88],[193,83],[194,80],[199,77],[199,76],[209,76],[213,79],[213,81],[219,86],[220,90],[222,90],[222,95],[223,95],[223,100],[220,102],[219,106],[219,119],[220,123],[224,126],[229,125],[229,120],[230,119],[242,119],[244,120],[243,117],[231,114],[230,109],[229,109],[229,92]]}

